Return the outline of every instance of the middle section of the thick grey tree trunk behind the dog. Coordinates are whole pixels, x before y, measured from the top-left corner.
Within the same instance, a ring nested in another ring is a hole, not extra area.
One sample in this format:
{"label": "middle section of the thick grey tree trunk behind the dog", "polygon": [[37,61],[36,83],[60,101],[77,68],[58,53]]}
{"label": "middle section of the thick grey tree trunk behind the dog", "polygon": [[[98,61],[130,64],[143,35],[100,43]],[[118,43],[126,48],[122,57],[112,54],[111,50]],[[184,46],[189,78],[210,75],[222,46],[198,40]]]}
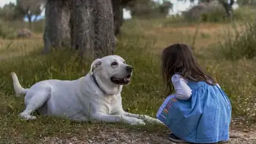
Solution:
{"label": "middle section of the thick grey tree trunk behind the dog", "polygon": [[92,54],[93,43],[92,4],[87,0],[75,0],[71,4],[70,43],[71,48],[81,54]]}

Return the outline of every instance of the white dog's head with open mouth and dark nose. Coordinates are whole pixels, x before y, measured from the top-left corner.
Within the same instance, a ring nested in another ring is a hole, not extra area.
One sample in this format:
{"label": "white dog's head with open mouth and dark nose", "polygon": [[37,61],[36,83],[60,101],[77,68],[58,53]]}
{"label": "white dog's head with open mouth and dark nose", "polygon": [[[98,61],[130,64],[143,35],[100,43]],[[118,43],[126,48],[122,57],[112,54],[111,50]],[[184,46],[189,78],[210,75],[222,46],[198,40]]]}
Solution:
{"label": "white dog's head with open mouth and dark nose", "polygon": [[99,86],[107,92],[116,87],[122,90],[122,85],[128,85],[132,71],[132,66],[126,64],[122,57],[108,55],[92,62],[90,75],[94,75]]}

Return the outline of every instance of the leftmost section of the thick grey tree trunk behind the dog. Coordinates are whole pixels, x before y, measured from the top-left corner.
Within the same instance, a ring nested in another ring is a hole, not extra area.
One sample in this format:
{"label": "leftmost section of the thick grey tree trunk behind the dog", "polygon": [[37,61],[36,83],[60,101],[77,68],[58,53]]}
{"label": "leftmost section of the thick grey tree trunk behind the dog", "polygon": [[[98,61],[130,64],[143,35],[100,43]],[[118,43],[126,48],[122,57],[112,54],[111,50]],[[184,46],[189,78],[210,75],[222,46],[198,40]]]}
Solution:
{"label": "leftmost section of the thick grey tree trunk behind the dog", "polygon": [[68,0],[48,0],[45,5],[44,53],[69,46],[70,7]]}

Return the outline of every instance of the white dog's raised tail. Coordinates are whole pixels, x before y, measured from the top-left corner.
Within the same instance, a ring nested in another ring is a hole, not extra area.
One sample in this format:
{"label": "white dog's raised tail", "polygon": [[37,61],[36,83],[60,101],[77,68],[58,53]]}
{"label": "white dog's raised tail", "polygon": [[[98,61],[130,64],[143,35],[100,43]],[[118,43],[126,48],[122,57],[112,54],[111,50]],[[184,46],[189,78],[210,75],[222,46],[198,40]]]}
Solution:
{"label": "white dog's raised tail", "polygon": [[15,90],[15,96],[19,97],[21,94],[26,94],[29,89],[24,89],[19,82],[19,79],[15,73],[11,73],[13,88]]}

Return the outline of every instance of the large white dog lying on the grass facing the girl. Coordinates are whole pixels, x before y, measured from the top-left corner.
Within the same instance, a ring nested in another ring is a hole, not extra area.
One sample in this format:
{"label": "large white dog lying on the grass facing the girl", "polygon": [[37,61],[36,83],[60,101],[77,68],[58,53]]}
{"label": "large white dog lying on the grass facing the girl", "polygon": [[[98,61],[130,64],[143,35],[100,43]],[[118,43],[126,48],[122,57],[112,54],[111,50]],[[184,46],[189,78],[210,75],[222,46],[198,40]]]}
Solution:
{"label": "large white dog lying on the grass facing the girl", "polygon": [[109,55],[92,62],[90,72],[77,80],[44,80],[24,89],[12,73],[16,96],[26,94],[26,110],[20,117],[36,119],[31,115],[39,110],[43,115],[67,117],[70,120],[90,122],[125,122],[131,125],[145,122],[163,124],[147,115],[127,113],[122,108],[122,85],[131,81],[132,66],[118,55]]}

